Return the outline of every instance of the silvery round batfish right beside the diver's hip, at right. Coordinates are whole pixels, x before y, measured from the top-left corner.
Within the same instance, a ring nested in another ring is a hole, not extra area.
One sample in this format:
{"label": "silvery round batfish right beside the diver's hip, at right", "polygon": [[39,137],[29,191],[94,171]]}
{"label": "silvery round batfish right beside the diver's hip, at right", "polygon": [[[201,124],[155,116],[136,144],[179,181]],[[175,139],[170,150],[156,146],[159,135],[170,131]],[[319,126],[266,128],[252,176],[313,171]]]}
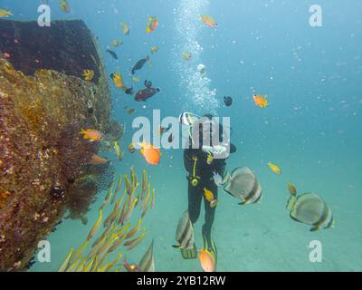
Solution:
{"label": "silvery round batfish right beside the diver's hip, at right", "polygon": [[233,169],[224,190],[240,199],[240,205],[255,203],[262,198],[262,187],[252,170],[247,167]]}

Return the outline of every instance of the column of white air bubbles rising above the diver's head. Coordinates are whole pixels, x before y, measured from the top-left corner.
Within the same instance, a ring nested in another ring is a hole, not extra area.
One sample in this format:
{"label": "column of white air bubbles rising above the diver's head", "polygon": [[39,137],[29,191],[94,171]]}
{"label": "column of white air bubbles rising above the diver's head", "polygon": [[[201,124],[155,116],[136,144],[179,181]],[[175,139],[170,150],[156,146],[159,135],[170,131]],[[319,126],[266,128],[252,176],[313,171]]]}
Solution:
{"label": "column of white air bubbles rising above the diver's head", "polygon": [[[214,113],[218,107],[215,98],[216,92],[211,87],[211,80],[207,77],[207,63],[202,63],[203,47],[198,43],[201,29],[204,28],[200,15],[206,14],[208,0],[182,0],[176,11],[176,37],[174,57],[176,72],[180,75],[179,86],[185,92],[180,96],[184,101],[183,109],[198,114]],[[191,59],[186,61],[182,53],[191,53]],[[205,73],[197,71],[197,66],[205,65]]]}

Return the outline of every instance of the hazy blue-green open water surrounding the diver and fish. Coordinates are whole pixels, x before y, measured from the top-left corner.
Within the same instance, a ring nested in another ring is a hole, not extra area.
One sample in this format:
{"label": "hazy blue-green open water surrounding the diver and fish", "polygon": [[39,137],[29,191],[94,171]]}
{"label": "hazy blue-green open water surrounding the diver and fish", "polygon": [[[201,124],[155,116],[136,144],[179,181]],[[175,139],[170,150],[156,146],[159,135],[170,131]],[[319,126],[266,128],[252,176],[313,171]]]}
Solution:
{"label": "hazy blue-green open water surrounding the diver and fish", "polygon": [[[16,20],[37,19],[41,1],[2,1],[0,8],[12,11]],[[127,150],[135,117],[163,117],[182,111],[213,112],[231,118],[232,142],[237,152],[227,169],[248,166],[264,189],[259,205],[238,206],[219,192],[214,221],[220,271],[360,271],[362,270],[362,2],[319,0],[321,27],[309,24],[314,1],[176,0],[176,1],[76,1],[69,0],[71,13],[64,14],[58,1],[50,0],[52,20],[82,19],[98,36],[107,73],[120,70],[126,82],[131,66],[149,54],[152,67],[138,73],[161,92],[146,103],[111,86],[113,118],[126,125],[121,147]],[[218,27],[202,24],[199,14],[213,15]],[[150,15],[159,25],[146,34]],[[120,23],[129,24],[124,36]],[[115,49],[119,62],[105,50],[119,38]],[[52,47],[49,47],[52,49]],[[192,50],[186,63],[180,54]],[[204,63],[205,77],[197,77],[196,65]],[[141,88],[141,82],[138,84]],[[261,109],[252,94],[269,97]],[[224,95],[233,97],[226,108]],[[127,114],[125,106],[137,109]],[[111,154],[109,155],[111,157]],[[113,157],[114,158],[114,157]],[[277,176],[267,167],[272,161],[282,168]],[[182,260],[175,244],[178,218],[187,207],[186,171],[182,150],[163,150],[161,163],[151,167],[139,154],[126,153],[117,163],[119,173],[147,169],[156,189],[156,208],[145,220],[146,241],[134,253],[137,261],[149,241],[155,239],[157,271],[201,271],[198,261]],[[301,192],[316,192],[332,209],[334,228],[310,232],[294,222],[285,210],[286,184]],[[70,247],[79,247],[105,193],[92,205],[90,222],[66,220],[48,239],[52,262],[36,263],[31,271],[57,270]],[[203,213],[195,226],[196,244],[202,245]],[[76,235],[74,233],[77,233]],[[310,241],[323,245],[323,261],[309,260]]]}

